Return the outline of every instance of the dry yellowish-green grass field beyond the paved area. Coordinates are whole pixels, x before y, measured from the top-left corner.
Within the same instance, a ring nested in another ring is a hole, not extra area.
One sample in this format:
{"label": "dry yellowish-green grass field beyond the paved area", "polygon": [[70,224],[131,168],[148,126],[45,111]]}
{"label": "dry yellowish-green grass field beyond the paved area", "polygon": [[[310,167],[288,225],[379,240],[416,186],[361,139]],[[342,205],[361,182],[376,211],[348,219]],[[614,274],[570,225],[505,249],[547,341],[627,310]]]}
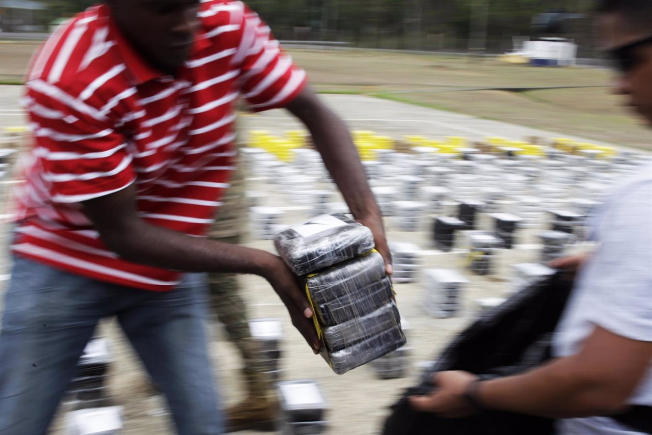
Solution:
{"label": "dry yellowish-green grass field beyond the paved area", "polygon": [[[0,41],[0,83],[20,83],[37,45]],[[323,93],[363,93],[652,150],[649,130],[621,107],[622,97],[612,95],[607,70],[364,50],[289,51]],[[555,87],[566,88],[546,89]]]}

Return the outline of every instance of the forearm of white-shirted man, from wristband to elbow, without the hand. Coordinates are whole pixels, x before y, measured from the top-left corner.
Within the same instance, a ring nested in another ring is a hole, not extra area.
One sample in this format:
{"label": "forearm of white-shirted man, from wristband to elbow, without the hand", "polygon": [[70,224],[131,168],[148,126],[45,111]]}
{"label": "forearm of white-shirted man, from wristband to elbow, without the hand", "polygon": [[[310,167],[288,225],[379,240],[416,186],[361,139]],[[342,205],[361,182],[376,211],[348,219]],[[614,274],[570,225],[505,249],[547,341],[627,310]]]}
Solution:
{"label": "forearm of white-shirted man, from wristband to elbow, without the hand", "polygon": [[608,387],[587,375],[573,357],[561,358],[524,374],[482,382],[482,406],[549,418],[617,413],[623,406]]}

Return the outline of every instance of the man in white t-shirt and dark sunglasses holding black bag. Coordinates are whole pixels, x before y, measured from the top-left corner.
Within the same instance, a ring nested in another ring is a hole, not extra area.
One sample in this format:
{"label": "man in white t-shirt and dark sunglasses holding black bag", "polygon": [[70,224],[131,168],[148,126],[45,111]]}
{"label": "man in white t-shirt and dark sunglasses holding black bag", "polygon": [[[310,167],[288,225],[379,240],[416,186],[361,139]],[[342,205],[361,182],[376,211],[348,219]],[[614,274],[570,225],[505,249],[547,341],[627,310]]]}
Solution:
{"label": "man in white t-shirt and dark sunglasses holding black bag", "polygon": [[[652,125],[650,23],[650,0],[602,1],[600,37],[619,68],[617,90]],[[596,233],[596,252],[554,264],[580,267],[558,325],[556,359],[482,382],[467,372],[440,372],[436,391],[411,404],[442,417],[480,407],[557,418],[560,435],[640,434],[595,416],[652,406],[652,164],[617,190]]]}

